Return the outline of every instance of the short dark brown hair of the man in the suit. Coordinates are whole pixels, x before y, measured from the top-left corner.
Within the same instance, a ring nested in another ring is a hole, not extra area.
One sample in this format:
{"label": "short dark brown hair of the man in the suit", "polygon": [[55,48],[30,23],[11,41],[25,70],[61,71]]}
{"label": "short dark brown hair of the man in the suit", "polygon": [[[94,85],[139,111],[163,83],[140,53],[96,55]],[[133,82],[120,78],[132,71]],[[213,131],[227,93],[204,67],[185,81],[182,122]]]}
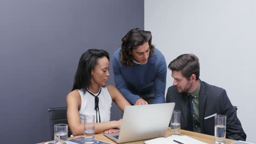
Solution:
{"label": "short dark brown hair of the man in the suit", "polygon": [[199,59],[193,54],[183,54],[170,62],[168,68],[176,71],[180,71],[187,80],[190,80],[190,76],[195,74],[196,80],[200,75]]}

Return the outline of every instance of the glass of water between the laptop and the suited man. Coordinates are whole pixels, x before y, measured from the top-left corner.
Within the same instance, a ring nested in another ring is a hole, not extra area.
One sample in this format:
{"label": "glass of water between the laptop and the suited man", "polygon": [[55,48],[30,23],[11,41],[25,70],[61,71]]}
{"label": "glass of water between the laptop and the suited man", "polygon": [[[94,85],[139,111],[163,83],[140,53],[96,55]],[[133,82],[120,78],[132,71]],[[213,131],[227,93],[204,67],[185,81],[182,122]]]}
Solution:
{"label": "glass of water between the laptop and the suited man", "polygon": [[171,135],[181,133],[181,111],[173,111],[171,118]]}

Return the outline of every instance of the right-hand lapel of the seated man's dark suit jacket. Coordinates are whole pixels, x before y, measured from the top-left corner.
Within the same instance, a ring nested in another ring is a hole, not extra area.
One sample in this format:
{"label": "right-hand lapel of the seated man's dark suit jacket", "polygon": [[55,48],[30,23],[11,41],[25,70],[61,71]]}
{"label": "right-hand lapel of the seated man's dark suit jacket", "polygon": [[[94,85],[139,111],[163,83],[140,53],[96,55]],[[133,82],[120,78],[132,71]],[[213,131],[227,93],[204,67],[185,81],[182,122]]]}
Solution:
{"label": "right-hand lapel of the seated man's dark suit jacket", "polygon": [[200,128],[201,133],[203,133],[203,122],[204,122],[204,116],[205,116],[205,101],[207,99],[206,95],[206,85],[205,82],[201,81],[201,87],[200,87],[200,96],[199,96],[199,119],[200,119]]}

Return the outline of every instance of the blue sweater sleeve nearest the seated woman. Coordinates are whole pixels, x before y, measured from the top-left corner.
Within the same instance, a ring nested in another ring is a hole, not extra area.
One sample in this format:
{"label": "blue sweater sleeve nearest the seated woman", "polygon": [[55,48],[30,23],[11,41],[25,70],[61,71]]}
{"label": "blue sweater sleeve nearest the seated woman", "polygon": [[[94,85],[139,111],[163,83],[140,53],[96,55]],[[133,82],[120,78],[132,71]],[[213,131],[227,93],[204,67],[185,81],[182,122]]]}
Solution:
{"label": "blue sweater sleeve nearest the seated woman", "polygon": [[[117,54],[117,53],[115,53]],[[124,80],[123,75],[121,74],[120,66],[119,66],[119,59],[115,56],[113,57],[113,71],[114,71],[114,81],[115,81],[115,86],[119,90],[119,92],[125,97],[129,103],[134,105],[136,101],[141,98],[139,95],[135,95],[127,89],[127,83]]]}

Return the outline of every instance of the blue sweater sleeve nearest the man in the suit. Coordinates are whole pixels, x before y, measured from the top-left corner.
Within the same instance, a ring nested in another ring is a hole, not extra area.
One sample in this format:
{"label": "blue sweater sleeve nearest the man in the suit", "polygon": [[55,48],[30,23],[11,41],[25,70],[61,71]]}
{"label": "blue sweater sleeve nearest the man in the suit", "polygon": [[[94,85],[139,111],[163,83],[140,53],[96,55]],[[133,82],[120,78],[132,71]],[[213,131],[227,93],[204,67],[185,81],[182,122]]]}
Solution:
{"label": "blue sweater sleeve nearest the man in the suit", "polygon": [[160,57],[160,62],[156,66],[157,72],[156,77],[154,80],[154,91],[155,91],[155,98],[154,98],[154,104],[160,104],[165,103],[165,87],[166,87],[166,61],[165,57],[162,55]]}

